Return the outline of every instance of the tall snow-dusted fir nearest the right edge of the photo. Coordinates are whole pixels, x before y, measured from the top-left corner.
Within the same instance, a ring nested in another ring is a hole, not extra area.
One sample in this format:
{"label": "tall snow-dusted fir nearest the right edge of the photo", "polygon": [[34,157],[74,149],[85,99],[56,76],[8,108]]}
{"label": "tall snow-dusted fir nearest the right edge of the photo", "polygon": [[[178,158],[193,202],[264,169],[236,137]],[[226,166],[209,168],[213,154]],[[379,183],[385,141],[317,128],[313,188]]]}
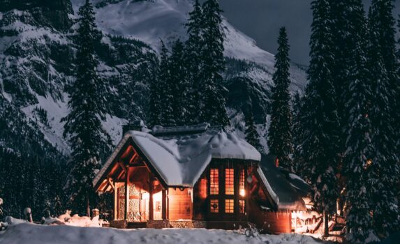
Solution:
{"label": "tall snow-dusted fir nearest the right edge of the photo", "polygon": [[[399,204],[396,183],[399,178],[399,158],[397,152],[396,132],[393,128],[394,114],[392,102],[394,91],[391,70],[394,55],[392,41],[383,38],[394,38],[387,33],[391,20],[387,15],[392,13],[391,1],[372,1],[369,10],[369,80],[372,83],[371,119],[373,135],[371,144],[373,155],[369,166],[369,185],[373,201],[374,229],[380,236],[388,236],[400,228]],[[385,30],[382,30],[385,29]],[[387,33],[387,36],[383,33]],[[388,46],[387,46],[388,45]],[[392,50],[392,54],[388,50]],[[390,56],[387,56],[390,55]]]}

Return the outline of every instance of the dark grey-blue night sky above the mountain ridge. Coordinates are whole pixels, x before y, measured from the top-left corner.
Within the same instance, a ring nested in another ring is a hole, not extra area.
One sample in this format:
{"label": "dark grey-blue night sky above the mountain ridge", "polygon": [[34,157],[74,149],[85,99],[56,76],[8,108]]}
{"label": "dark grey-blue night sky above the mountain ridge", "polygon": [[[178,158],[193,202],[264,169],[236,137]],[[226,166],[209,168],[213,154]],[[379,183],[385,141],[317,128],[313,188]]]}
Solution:
{"label": "dark grey-blue night sky above the mountain ridge", "polygon": [[[276,52],[279,28],[286,26],[291,46],[290,59],[308,65],[311,0],[219,0],[223,15],[237,29],[253,38],[259,47]],[[368,8],[371,0],[364,0]],[[400,14],[400,1],[394,15]]]}

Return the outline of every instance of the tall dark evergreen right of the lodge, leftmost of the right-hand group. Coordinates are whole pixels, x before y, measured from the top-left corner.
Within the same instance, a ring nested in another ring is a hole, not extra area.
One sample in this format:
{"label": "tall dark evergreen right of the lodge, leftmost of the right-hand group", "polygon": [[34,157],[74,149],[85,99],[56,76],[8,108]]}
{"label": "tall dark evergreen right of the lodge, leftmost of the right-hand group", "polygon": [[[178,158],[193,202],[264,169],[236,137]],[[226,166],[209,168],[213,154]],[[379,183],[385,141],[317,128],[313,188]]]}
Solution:
{"label": "tall dark evergreen right of the lodge, leftmost of the right-hand group", "polygon": [[313,208],[323,213],[324,235],[329,214],[336,210],[336,168],[339,160],[339,116],[335,103],[332,66],[334,63],[332,43],[331,4],[328,0],[314,0],[313,24],[311,26],[311,62],[308,70],[302,128],[305,131],[302,144],[306,181],[311,184]]}

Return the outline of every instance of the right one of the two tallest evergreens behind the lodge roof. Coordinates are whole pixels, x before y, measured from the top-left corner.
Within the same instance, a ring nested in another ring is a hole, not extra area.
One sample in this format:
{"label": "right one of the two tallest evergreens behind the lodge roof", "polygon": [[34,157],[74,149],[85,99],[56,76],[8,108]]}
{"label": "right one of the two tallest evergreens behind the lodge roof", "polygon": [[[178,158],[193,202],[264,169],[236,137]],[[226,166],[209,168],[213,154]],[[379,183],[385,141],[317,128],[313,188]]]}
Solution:
{"label": "right one of the two tallest evergreens behind the lodge roof", "polygon": [[221,8],[217,0],[207,0],[202,6],[202,84],[200,85],[200,119],[212,125],[228,125],[226,111],[226,89],[222,72],[225,69],[223,56],[224,34]]}

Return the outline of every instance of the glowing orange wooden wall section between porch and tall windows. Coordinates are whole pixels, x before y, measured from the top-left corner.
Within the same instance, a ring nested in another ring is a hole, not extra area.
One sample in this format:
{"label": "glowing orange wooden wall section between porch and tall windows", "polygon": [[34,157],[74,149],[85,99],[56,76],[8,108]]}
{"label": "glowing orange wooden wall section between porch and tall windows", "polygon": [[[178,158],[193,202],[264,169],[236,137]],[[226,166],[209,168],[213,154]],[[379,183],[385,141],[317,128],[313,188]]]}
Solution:
{"label": "glowing orange wooden wall section between porch and tall windows", "polygon": [[191,220],[192,219],[192,197],[191,190],[185,188],[168,189],[168,214],[169,220]]}

